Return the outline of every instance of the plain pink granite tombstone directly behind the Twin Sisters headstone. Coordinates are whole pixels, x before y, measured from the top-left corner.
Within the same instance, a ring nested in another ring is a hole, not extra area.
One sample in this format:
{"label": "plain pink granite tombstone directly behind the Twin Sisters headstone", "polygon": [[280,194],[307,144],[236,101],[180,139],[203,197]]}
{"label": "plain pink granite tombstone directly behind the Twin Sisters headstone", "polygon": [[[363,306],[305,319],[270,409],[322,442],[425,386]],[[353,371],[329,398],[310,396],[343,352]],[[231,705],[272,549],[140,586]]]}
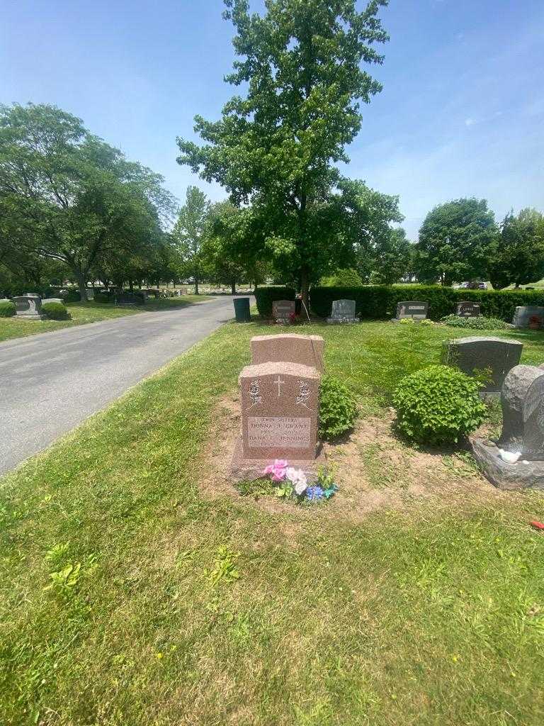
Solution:
{"label": "plain pink granite tombstone directly behind the Twin Sisters headstone", "polygon": [[260,363],[298,363],[317,368],[323,372],[323,349],[325,341],[321,335],[255,335],[250,342],[252,365]]}

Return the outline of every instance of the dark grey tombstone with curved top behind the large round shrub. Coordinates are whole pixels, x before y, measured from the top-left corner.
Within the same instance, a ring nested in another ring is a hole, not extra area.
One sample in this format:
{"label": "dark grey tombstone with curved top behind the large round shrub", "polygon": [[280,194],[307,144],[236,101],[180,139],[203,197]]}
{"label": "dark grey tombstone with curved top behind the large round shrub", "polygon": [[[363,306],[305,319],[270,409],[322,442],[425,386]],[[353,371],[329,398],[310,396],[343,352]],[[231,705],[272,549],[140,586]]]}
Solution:
{"label": "dark grey tombstone with curved top behind the large round shrub", "polygon": [[480,389],[482,396],[498,395],[506,374],[519,363],[523,343],[505,338],[485,338],[471,335],[469,338],[445,340],[442,362],[458,367],[467,375],[482,375],[487,372],[487,380]]}

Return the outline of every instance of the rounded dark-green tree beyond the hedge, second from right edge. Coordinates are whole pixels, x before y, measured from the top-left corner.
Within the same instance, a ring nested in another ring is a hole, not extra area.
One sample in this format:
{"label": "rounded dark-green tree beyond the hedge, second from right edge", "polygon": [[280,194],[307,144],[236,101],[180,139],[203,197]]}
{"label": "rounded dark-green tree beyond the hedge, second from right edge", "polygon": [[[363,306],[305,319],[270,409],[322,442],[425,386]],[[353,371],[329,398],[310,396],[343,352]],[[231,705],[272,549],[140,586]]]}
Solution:
{"label": "rounded dark-green tree beyond the hedge, second from right edge", "polygon": [[421,282],[451,285],[489,274],[498,229],[485,199],[458,199],[427,214],[416,243],[415,272]]}

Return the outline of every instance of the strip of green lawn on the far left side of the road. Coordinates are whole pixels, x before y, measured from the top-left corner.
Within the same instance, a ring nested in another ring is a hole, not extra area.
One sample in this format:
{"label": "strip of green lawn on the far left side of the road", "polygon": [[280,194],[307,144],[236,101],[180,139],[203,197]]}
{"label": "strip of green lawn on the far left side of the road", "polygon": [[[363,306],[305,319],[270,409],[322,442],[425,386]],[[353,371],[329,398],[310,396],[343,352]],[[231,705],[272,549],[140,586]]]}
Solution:
{"label": "strip of green lawn on the far left side of the road", "polygon": [[149,300],[145,305],[137,307],[114,305],[113,303],[68,303],[67,309],[72,316],[70,320],[0,318],[0,342],[12,338],[25,338],[27,335],[36,335],[36,333],[49,333],[51,330],[60,330],[63,327],[73,327],[88,322],[123,317],[124,315],[184,307],[205,300],[210,300],[210,297],[206,295],[184,295],[182,298],[159,298],[158,300]]}

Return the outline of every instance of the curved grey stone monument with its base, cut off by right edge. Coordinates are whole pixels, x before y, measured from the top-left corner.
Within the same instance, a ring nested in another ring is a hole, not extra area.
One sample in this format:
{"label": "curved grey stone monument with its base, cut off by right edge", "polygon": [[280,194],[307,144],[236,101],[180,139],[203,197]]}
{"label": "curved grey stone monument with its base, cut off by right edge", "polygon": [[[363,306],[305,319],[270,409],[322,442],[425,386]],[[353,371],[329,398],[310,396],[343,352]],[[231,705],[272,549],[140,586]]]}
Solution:
{"label": "curved grey stone monument with its base, cut off by right edge", "polygon": [[499,489],[544,489],[544,370],[518,365],[501,394],[503,431],[498,441],[470,436],[479,467]]}

